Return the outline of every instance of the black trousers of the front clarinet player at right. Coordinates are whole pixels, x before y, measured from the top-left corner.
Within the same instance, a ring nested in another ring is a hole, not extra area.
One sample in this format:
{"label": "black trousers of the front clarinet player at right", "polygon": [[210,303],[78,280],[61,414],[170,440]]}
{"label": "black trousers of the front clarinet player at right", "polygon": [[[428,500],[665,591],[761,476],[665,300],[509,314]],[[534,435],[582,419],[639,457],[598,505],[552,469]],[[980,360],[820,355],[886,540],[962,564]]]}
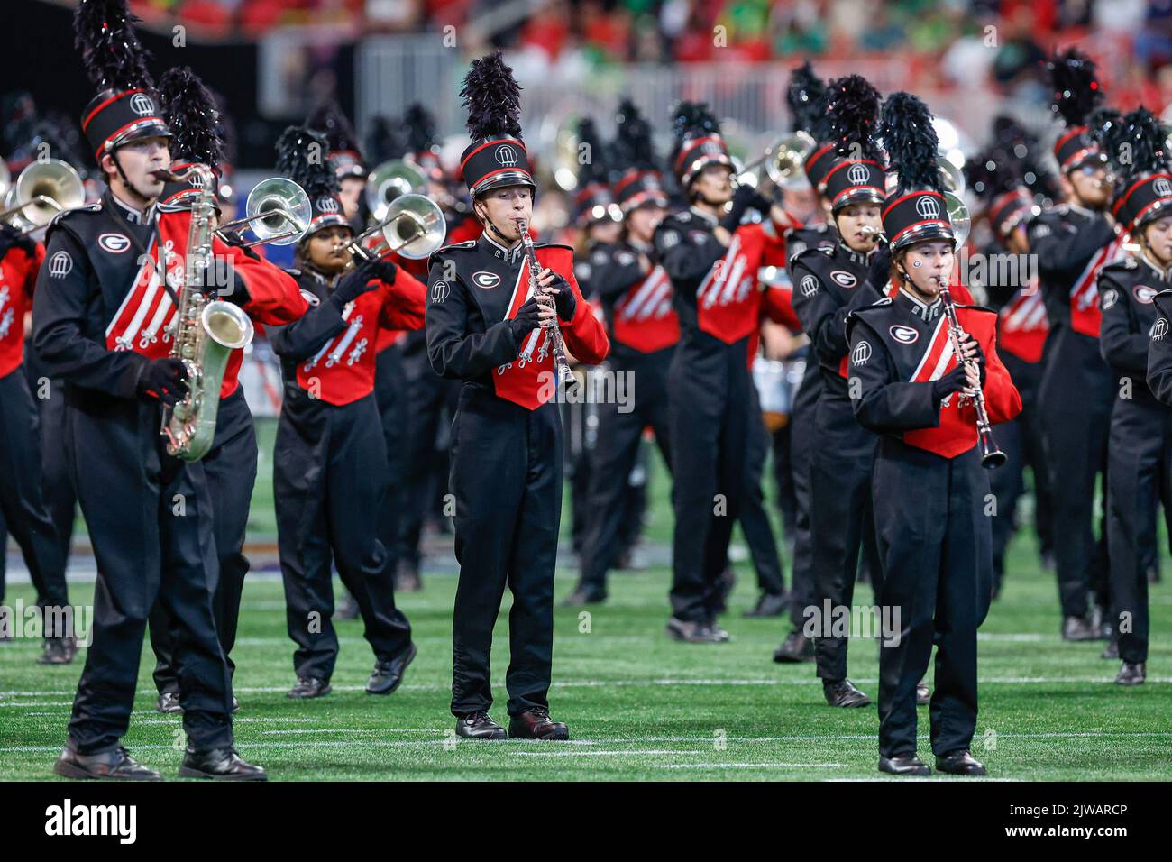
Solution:
{"label": "black trousers of the front clarinet player at right", "polygon": [[993,590],[989,480],[974,447],[943,459],[884,436],[872,484],[881,608],[898,645],[879,650],[879,753],[915,751],[915,686],[936,646],[932,751],[968,748],[976,729],[976,630]]}

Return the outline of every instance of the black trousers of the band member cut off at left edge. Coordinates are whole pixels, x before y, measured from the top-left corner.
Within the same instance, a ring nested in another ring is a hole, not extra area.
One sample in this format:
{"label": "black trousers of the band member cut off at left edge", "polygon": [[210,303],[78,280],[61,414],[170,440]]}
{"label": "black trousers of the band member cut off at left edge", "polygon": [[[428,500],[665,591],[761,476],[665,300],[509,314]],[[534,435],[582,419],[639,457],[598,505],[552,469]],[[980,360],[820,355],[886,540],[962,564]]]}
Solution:
{"label": "black trousers of the band member cut off at left edge", "polygon": [[[61,389],[52,399],[64,401]],[[0,378],[0,511],[16,539],[40,608],[66,608],[66,555],[42,495],[41,443],[36,406],[22,366]],[[0,545],[0,556],[4,556]],[[0,600],[4,581],[0,578]],[[46,631],[46,637],[73,632]]]}

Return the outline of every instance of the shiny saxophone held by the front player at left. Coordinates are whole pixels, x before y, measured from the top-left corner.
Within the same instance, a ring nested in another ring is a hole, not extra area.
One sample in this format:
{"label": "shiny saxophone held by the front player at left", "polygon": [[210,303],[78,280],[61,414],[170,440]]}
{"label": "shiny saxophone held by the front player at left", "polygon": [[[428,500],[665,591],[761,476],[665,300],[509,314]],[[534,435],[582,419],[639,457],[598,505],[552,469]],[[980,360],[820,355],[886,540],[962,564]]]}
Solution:
{"label": "shiny saxophone held by the front player at left", "polygon": [[186,369],[189,388],[178,403],[163,405],[159,430],[166,437],[169,455],[198,461],[207,454],[216,436],[216,413],[229,355],[252,341],[253,327],[252,320],[239,306],[207,298],[212,219],[216,217],[214,172],[206,165],[193,164],[182,174],[157,174],[171,182],[192,176],[203,179],[191,204],[188,257],[175,318],[175,344],[171,346],[171,355],[182,360]]}

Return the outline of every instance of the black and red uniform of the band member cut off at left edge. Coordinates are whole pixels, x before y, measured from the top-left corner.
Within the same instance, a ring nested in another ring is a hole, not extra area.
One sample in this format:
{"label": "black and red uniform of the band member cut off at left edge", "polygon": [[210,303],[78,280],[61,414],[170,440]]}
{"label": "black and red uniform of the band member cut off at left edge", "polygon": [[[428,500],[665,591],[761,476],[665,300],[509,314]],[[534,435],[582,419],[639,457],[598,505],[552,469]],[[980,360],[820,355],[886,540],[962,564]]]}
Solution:
{"label": "black and red uniform of the band member cut off at left edge", "polygon": [[[11,230],[2,229],[6,233]],[[39,415],[25,373],[25,315],[33,306],[45,246],[7,237],[0,251],[0,515],[16,539],[36,590],[39,608],[67,608],[66,552],[42,494]],[[49,399],[62,401],[60,391]],[[0,548],[2,550],[2,548]],[[0,566],[0,604],[5,578]],[[15,620],[9,620],[15,624]],[[71,636],[57,632],[55,637]],[[46,636],[49,632],[46,631]]]}

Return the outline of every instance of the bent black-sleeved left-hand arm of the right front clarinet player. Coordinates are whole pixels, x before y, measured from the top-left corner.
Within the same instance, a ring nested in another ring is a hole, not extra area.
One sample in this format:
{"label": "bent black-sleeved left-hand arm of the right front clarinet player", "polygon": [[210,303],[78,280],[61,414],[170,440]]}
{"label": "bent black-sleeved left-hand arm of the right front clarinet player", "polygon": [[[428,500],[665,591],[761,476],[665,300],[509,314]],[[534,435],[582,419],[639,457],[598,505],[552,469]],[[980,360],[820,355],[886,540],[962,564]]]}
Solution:
{"label": "bent black-sleeved left-hand arm of the right front clarinet player", "polygon": [[[898,379],[887,348],[874,330],[852,318],[847,332],[851,358],[847,385],[859,425],[877,434],[939,426],[940,401],[961,388],[963,368],[954,368],[931,382],[906,382]],[[864,344],[866,347],[860,347]]]}

